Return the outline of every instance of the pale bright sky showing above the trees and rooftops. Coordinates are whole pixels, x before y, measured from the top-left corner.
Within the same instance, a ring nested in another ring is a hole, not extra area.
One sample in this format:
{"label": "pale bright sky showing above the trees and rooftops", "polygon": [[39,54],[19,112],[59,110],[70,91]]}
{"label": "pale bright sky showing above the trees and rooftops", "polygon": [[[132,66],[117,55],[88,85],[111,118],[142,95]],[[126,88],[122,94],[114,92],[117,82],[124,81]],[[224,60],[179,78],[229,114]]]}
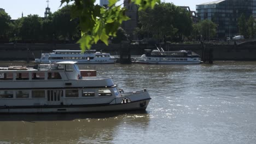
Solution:
{"label": "pale bright sky showing above the trees and rooftops", "polygon": [[[52,13],[61,8],[60,1],[49,0],[49,8]],[[190,10],[196,10],[197,4],[211,1],[214,0],[161,0],[161,2],[173,3],[178,6],[189,6]],[[100,4],[100,0],[96,0],[96,3]],[[119,3],[123,3],[123,0]],[[18,19],[21,17],[22,12],[24,16],[37,14],[40,17],[44,17],[46,7],[46,0],[0,0],[0,8],[3,8],[10,15],[11,19]]]}

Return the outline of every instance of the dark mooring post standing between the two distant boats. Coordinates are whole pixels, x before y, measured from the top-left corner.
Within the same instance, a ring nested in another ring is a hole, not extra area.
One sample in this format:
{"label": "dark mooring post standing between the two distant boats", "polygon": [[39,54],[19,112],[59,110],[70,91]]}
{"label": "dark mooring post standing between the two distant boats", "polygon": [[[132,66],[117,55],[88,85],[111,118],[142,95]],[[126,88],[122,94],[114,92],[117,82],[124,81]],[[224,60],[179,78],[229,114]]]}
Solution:
{"label": "dark mooring post standing between the two distant boats", "polygon": [[121,64],[131,64],[131,49],[130,41],[122,41],[120,53],[120,63]]}

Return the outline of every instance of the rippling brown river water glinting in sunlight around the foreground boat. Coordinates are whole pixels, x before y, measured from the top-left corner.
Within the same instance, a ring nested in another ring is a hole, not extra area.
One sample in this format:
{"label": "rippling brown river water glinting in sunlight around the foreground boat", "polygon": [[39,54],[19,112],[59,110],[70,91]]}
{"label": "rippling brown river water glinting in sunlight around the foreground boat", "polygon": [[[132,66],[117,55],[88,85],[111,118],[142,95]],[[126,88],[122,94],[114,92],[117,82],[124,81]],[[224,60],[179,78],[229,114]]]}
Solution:
{"label": "rippling brown river water glinting in sunlight around the foreground boat", "polygon": [[79,65],[125,92],[147,88],[147,110],[0,115],[0,143],[255,143],[255,66]]}

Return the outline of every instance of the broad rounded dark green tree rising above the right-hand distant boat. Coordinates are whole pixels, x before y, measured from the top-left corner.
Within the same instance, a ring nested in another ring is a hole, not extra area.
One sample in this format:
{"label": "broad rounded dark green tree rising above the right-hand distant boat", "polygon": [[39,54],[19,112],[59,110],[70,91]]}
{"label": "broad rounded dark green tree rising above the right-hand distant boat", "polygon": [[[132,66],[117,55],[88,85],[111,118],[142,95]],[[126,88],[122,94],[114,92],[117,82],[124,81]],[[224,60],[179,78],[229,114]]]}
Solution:
{"label": "broad rounded dark green tree rising above the right-hand distant boat", "polygon": [[144,38],[150,35],[159,42],[164,37],[181,41],[193,29],[189,12],[172,3],[160,3],[154,9],[140,11],[139,23],[138,34],[144,34]]}

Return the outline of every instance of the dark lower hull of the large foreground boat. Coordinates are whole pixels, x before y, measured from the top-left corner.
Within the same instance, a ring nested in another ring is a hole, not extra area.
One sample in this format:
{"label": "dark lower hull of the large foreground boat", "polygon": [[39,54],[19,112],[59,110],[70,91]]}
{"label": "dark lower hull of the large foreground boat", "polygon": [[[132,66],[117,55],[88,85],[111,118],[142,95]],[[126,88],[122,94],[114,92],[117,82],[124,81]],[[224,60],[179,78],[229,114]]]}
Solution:
{"label": "dark lower hull of the large foreground boat", "polygon": [[101,105],[54,105],[54,106],[9,106],[0,107],[0,113],[72,113],[146,110],[151,98],[124,104]]}

